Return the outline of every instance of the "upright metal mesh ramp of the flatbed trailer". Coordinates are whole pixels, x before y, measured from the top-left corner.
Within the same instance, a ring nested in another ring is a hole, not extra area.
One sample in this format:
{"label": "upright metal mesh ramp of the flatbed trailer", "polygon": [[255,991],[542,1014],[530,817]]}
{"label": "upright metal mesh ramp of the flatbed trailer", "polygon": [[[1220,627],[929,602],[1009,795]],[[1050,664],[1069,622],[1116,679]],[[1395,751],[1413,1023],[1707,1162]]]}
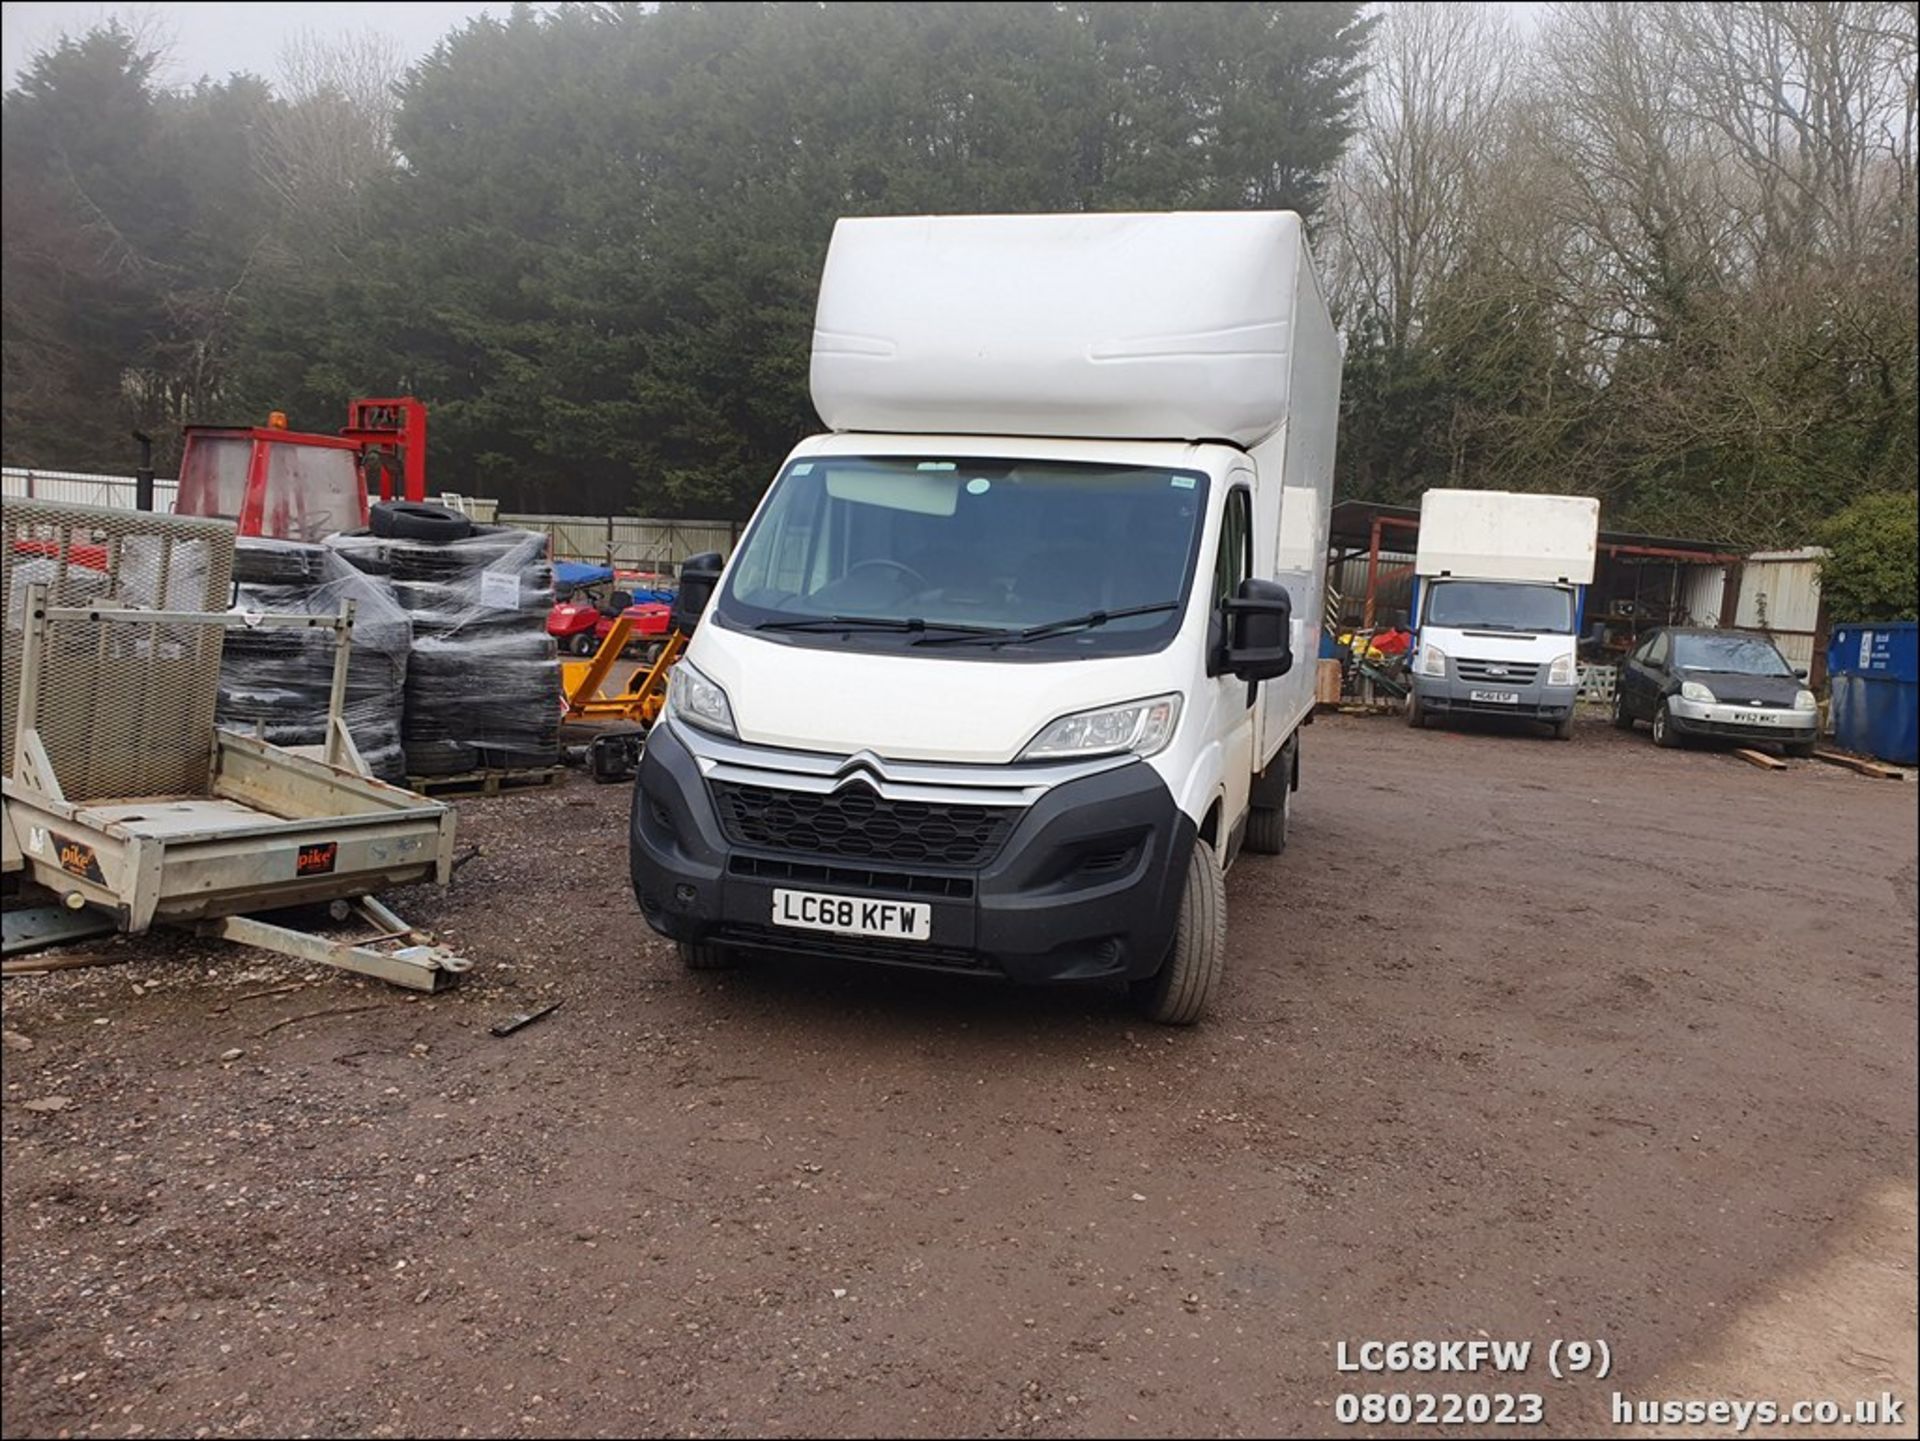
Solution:
{"label": "upright metal mesh ramp of the flatbed trailer", "polygon": [[[234,528],[61,501],[6,503],[0,522],[4,756],[13,768],[27,587],[56,606],[227,610]],[[198,794],[213,758],[219,626],[56,622],[40,672],[40,731],[67,800]]]}

